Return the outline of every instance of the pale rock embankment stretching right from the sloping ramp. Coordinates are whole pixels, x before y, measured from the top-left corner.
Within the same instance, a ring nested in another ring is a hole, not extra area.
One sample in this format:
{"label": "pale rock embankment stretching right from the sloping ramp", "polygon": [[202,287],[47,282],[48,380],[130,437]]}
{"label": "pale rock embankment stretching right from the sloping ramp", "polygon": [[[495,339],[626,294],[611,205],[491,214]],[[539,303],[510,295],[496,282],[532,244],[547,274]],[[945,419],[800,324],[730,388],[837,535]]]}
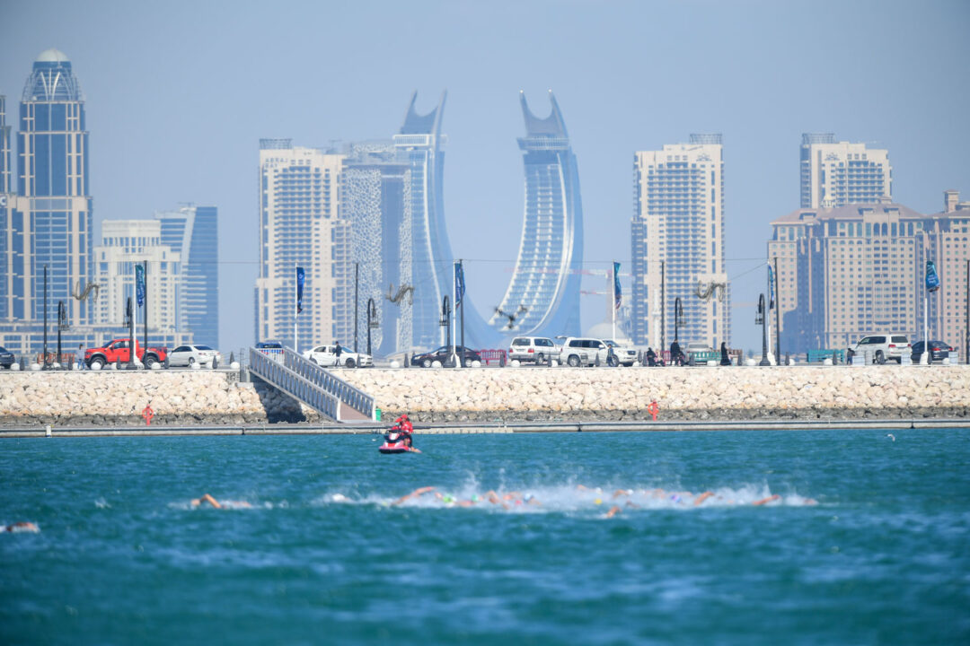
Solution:
{"label": "pale rock embankment stretching right from the sloping ramp", "polygon": [[970,416],[970,366],[344,370],[384,418],[426,421]]}

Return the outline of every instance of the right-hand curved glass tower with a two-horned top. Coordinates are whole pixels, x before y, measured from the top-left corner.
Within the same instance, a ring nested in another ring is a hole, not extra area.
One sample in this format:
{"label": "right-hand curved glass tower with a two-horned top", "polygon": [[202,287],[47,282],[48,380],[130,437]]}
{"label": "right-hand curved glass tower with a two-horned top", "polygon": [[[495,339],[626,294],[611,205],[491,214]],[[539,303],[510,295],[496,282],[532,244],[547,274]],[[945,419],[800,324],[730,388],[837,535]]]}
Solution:
{"label": "right-hand curved glass tower with a two-horned top", "polygon": [[[579,170],[559,104],[537,118],[520,93],[526,136],[519,138],[526,173],[525,222],[519,255],[490,324],[507,334],[577,336],[583,261],[583,205]],[[509,328],[509,319],[515,316]]]}

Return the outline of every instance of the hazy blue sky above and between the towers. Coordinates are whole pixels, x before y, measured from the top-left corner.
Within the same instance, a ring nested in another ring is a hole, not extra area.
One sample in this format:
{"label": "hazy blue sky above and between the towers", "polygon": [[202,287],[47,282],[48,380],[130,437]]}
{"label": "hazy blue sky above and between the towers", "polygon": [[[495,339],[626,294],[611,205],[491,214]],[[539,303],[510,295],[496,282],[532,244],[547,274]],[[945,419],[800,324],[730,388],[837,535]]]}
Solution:
{"label": "hazy blue sky above and between the towers", "polygon": [[[448,231],[490,309],[522,227],[519,90],[539,116],[549,88],[563,109],[591,269],[630,269],[633,151],[723,133],[732,345],[760,348],[751,269],[768,223],[799,205],[801,133],[888,148],[893,197],[922,212],[945,189],[970,199],[968,33],[967,0],[0,0],[0,94],[16,130],[31,64],[62,50],[86,99],[96,220],[219,208],[225,350],[253,340],[259,138],[387,138],[414,90],[426,112],[447,89]],[[584,327],[603,298],[584,296]]]}

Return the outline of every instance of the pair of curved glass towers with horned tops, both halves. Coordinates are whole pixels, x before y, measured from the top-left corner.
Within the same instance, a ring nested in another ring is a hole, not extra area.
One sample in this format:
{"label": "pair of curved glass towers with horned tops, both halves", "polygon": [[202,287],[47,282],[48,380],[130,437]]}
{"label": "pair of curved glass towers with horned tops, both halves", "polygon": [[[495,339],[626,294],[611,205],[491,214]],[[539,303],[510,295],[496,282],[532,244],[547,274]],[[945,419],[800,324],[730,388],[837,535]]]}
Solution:
{"label": "pair of curved glass towers with horned tops, both halves", "polygon": [[[425,115],[414,111],[416,98],[415,93],[401,134],[394,139],[399,150],[405,146],[409,149],[411,163],[418,163],[424,170],[413,175],[410,200],[414,217],[409,239],[403,242],[410,246],[413,284],[425,288],[414,291],[412,338],[418,345],[434,345],[442,297],[453,292],[454,280],[441,190],[444,153],[440,131],[445,97],[442,95],[438,106]],[[525,93],[520,94],[520,100],[526,122],[526,136],[519,138],[526,203],[519,255],[512,280],[491,319],[486,323],[474,307],[468,308],[465,333],[469,347],[495,347],[509,335],[579,334],[583,208],[576,157],[552,91],[552,111],[544,119],[529,109]],[[427,289],[430,287],[434,289]],[[433,338],[422,339],[425,334],[419,330],[427,330]]]}

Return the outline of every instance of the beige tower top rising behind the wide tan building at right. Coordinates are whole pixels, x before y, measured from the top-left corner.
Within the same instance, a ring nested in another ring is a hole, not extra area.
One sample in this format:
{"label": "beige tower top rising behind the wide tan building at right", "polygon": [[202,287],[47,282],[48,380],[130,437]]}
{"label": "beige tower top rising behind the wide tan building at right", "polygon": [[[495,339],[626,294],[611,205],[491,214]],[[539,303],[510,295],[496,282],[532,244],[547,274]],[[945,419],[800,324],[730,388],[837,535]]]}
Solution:
{"label": "beige tower top rising behind the wide tan building at right", "polygon": [[801,136],[801,207],[892,201],[889,151],[836,141],[831,133]]}

